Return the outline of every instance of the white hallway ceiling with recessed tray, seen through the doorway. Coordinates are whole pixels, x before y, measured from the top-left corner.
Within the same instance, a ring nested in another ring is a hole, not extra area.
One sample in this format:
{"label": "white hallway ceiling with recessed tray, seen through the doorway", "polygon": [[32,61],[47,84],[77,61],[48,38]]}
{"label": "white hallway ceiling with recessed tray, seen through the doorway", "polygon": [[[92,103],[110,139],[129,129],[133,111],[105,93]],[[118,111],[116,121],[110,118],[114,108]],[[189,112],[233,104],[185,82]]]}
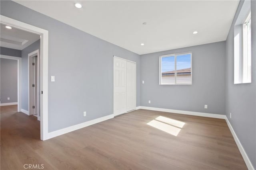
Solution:
{"label": "white hallway ceiling with recessed tray, seen through the doorway", "polygon": [[23,50],[24,48],[28,47],[32,43],[36,42],[40,39],[39,35],[26,32],[20,29],[12,28],[7,29],[3,24],[0,24],[0,46]]}

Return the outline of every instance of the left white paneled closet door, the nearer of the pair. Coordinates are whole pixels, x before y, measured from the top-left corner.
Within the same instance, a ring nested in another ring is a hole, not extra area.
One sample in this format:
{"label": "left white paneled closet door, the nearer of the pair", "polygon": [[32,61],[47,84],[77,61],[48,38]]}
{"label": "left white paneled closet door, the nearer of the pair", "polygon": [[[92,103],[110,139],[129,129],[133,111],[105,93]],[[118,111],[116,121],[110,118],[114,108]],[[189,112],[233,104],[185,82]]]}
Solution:
{"label": "left white paneled closet door, the nearer of the pair", "polygon": [[126,113],[126,61],[114,57],[114,116]]}

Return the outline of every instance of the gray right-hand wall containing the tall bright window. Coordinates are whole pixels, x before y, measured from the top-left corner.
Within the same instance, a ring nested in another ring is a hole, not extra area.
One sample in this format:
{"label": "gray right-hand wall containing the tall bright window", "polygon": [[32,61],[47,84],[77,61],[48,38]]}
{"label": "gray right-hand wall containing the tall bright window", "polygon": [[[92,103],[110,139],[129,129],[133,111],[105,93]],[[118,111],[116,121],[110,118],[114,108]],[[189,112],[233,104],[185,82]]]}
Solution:
{"label": "gray right-hand wall containing the tall bright window", "polygon": [[[240,2],[226,40],[226,115],[238,139],[256,168],[256,1],[251,1],[252,17],[252,83],[234,84],[234,23]],[[232,113],[232,119],[230,119]]]}

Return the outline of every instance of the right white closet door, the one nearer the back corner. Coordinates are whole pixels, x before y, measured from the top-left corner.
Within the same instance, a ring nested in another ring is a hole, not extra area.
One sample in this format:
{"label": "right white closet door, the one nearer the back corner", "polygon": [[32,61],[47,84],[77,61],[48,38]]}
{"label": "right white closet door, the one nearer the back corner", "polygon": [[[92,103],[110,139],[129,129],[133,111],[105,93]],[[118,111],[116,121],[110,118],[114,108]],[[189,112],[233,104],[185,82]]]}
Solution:
{"label": "right white closet door, the one nearer the back corner", "polygon": [[127,96],[127,109],[126,111],[131,111],[135,109],[135,99],[136,99],[136,64],[130,61],[126,63],[126,96]]}

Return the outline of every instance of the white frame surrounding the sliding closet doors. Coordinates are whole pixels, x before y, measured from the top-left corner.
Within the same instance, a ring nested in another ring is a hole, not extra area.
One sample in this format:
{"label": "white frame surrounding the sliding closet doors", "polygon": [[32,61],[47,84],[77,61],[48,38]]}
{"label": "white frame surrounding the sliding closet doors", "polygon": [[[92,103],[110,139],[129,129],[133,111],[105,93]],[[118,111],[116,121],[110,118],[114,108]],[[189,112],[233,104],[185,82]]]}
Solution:
{"label": "white frame surrounding the sliding closet doors", "polygon": [[[130,61],[130,60],[127,60],[127,59],[124,59],[124,58],[121,58],[121,57],[117,57],[115,55],[113,55],[113,114],[114,114],[114,94],[115,94],[115,87],[114,87],[114,76],[115,76],[115,66],[114,66],[114,58],[117,58],[117,59],[121,59],[121,60],[125,60],[125,61],[129,61],[129,62],[132,62],[132,63],[135,63],[135,106],[134,106],[134,110],[136,110],[136,103],[137,103],[137,63],[135,61]],[[127,89],[126,89],[127,91]],[[127,101],[126,101],[127,103]],[[127,106],[127,105],[126,105]],[[134,111],[134,110],[130,110],[130,111]],[[130,111],[126,111],[125,113],[128,113]],[[124,114],[124,113],[123,113]],[[122,114],[120,114],[122,115]],[[119,116],[119,115],[114,115],[115,116]]]}

